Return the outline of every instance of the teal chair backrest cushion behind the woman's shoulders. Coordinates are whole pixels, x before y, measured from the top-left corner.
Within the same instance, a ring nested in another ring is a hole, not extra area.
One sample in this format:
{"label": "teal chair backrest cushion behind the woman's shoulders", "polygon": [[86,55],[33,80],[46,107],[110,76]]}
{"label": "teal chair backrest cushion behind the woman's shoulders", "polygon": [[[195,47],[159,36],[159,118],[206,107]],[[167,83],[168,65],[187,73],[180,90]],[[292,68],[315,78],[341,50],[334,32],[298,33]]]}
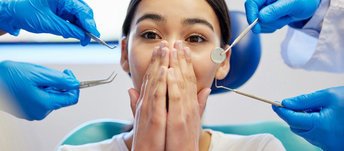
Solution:
{"label": "teal chair backrest cushion behind the woman's shoulders", "polygon": [[[63,144],[82,145],[103,141],[122,133],[128,127],[131,127],[131,124],[130,121],[114,119],[89,121],[69,132],[57,147]],[[270,133],[282,142],[287,151],[321,151],[318,147],[292,133],[289,126],[284,122],[264,121],[238,125],[203,126],[203,128],[238,135]]]}

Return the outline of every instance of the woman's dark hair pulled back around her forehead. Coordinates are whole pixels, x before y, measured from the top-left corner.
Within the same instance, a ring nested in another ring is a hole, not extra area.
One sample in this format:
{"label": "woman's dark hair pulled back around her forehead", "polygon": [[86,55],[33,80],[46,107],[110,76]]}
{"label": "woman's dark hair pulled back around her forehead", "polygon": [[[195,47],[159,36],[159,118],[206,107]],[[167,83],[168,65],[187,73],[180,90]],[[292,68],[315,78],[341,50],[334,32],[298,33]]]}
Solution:
{"label": "woman's dark hair pulled back around her forehead", "polygon": [[[230,41],[231,27],[230,27],[230,15],[227,8],[227,4],[224,0],[206,0],[207,3],[213,8],[221,30],[221,47],[224,47]],[[137,6],[141,0],[131,0],[129,3],[126,19],[122,26],[123,35],[128,36],[130,31],[130,25],[136,11]]]}

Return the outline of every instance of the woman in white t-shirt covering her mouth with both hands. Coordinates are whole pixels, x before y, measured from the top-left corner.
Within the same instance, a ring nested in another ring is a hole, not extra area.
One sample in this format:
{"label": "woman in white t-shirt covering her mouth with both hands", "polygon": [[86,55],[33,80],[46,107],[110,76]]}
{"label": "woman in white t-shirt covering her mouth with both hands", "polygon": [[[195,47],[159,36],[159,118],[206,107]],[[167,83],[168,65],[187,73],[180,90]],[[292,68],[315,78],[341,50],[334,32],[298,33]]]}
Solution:
{"label": "woman in white t-shirt covering her mouth with both hands", "polygon": [[231,51],[222,64],[210,60],[230,40],[224,0],[132,0],[123,35],[121,65],[135,87],[128,89],[133,130],[59,150],[285,150],[271,134],[202,129],[209,87],[229,72]]}

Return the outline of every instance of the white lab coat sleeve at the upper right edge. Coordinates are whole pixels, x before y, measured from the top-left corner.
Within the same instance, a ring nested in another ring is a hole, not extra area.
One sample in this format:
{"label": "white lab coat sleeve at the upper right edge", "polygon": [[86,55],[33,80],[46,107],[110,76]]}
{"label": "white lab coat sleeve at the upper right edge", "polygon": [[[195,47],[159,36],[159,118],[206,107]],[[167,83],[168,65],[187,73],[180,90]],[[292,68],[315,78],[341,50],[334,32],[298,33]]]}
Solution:
{"label": "white lab coat sleeve at the upper right edge", "polygon": [[322,0],[302,29],[289,27],[281,55],[293,68],[344,73],[344,0]]}

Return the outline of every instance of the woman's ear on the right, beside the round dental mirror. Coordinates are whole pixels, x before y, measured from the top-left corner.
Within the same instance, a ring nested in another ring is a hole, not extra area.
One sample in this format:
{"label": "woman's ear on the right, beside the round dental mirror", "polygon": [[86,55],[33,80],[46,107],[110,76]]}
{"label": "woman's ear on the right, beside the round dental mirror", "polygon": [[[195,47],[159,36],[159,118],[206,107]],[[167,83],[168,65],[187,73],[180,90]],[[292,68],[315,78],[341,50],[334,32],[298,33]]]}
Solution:
{"label": "woman's ear on the right, beside the round dental mirror", "polygon": [[[229,47],[229,45],[226,45],[225,46],[225,50]],[[230,69],[230,64],[229,64],[229,60],[230,60],[230,55],[232,54],[232,48],[229,49],[229,51],[226,53],[226,58],[225,58],[225,61],[223,61],[221,64],[219,64],[217,66],[217,70],[216,70],[216,73],[215,73],[215,78],[216,79],[219,79],[219,80],[222,80],[224,79],[228,72],[229,72],[229,69]]]}

